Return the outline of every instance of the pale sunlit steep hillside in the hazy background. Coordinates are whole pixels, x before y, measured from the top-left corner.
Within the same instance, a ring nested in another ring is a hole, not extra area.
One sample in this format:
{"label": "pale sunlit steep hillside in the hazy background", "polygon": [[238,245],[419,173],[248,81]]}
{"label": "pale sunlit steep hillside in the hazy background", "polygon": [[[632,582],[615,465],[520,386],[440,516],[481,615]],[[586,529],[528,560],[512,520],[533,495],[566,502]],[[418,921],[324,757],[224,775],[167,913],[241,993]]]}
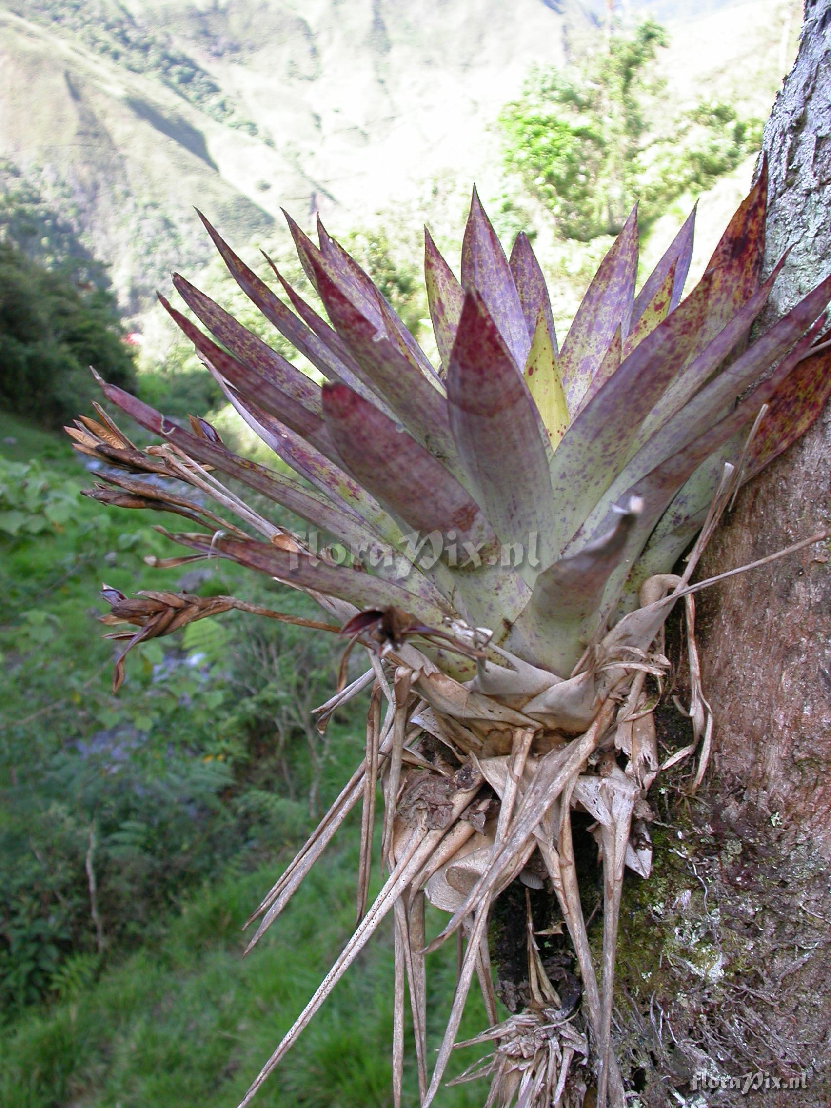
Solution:
{"label": "pale sunlit steep hillside in the hazy background", "polygon": [[[110,261],[136,312],[174,263],[208,257],[195,204],[242,245],[268,237],[281,205],[300,218],[319,208],[342,232],[379,207],[430,207],[435,181],[445,196],[475,179],[499,197],[499,110],[532,64],[578,54],[606,10],[605,0],[0,0],[0,160]],[[799,25],[794,0],[616,10],[669,23],[676,100],[752,89],[761,116]],[[0,193],[4,179],[0,165]],[[453,226],[460,217],[454,199]]]}

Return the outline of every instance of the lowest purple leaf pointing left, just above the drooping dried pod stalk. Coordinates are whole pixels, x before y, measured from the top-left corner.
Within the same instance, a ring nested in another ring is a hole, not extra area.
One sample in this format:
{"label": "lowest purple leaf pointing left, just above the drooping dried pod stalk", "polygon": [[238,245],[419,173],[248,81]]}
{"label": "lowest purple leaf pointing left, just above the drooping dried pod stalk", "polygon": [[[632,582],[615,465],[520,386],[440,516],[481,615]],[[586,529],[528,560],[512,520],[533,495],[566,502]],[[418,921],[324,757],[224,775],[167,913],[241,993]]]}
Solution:
{"label": "lowest purple leaf pointing left, just above the drooping dried pod stalk", "polygon": [[[338,386],[346,388],[346,386]],[[358,608],[401,608],[409,615],[431,626],[441,626],[449,614],[447,607],[430,603],[423,597],[390,581],[382,581],[369,573],[347,566],[331,565],[302,552],[278,550],[269,543],[244,541],[211,535],[176,534],[171,537],[191,550],[214,553],[230,558],[239,565],[266,573],[286,584],[302,589],[314,589],[327,596],[337,596]]]}

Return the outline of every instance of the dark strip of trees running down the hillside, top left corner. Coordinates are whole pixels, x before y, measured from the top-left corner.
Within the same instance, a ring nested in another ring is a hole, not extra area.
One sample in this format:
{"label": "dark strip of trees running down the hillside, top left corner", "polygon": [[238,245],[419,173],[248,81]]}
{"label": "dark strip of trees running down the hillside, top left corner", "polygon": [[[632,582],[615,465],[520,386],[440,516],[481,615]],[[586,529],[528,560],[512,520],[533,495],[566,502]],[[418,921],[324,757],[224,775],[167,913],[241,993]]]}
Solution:
{"label": "dark strip of trees running down the hillside, top left corner", "polygon": [[218,123],[252,135],[258,133],[256,124],[238,114],[211,74],[177,50],[166,35],[141,25],[121,4],[110,8],[99,3],[96,11],[91,8],[89,0],[27,0],[18,13],[72,31],[85,47],[134,73],[156,74]]}

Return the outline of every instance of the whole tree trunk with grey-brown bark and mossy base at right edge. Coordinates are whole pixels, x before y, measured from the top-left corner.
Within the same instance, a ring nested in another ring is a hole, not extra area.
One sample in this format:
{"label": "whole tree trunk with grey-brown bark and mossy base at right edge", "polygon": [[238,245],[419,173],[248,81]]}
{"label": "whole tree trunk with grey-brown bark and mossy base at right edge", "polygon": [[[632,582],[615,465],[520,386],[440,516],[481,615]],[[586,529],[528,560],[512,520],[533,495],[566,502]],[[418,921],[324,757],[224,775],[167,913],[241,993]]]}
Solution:
{"label": "whole tree trunk with grey-brown bark and mossy base at right edge", "polygon": [[[806,2],[763,147],[767,271],[790,254],[762,329],[831,269],[831,0]],[[831,524],[830,460],[831,406],[742,491],[699,577]],[[714,757],[697,797],[673,800],[686,770],[650,796],[655,869],[629,881],[622,914],[618,1056],[645,1108],[828,1108],[831,550],[698,599]]]}

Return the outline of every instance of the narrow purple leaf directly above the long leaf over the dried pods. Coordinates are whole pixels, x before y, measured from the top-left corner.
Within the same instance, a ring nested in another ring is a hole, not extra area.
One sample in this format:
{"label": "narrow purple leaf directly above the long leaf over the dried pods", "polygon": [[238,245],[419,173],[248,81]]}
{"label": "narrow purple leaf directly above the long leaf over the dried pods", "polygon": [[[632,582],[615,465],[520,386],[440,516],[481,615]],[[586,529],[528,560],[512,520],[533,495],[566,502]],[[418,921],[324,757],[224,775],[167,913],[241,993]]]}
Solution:
{"label": "narrow purple leaf directly above the long leaf over the dried pods", "polygon": [[[227,355],[215,342],[212,342],[198,327],[195,327],[189,319],[183,316],[181,311],[177,311],[168,304],[163,296],[160,295],[158,299],[171,318],[181,327],[187,338],[191,339],[199,353],[204,355],[212,366],[222,373],[225,380],[234,386],[240,396],[250,399],[271,416],[276,416],[277,419],[287,423],[298,434],[308,439],[318,450],[321,450],[327,458],[336,456],[329,440],[329,433],[320,414],[319,399],[314,410],[307,408],[305,403],[284,392],[273,380],[268,380],[255,369],[244,366],[243,362]],[[309,384],[317,388],[311,381],[309,381]]]}

